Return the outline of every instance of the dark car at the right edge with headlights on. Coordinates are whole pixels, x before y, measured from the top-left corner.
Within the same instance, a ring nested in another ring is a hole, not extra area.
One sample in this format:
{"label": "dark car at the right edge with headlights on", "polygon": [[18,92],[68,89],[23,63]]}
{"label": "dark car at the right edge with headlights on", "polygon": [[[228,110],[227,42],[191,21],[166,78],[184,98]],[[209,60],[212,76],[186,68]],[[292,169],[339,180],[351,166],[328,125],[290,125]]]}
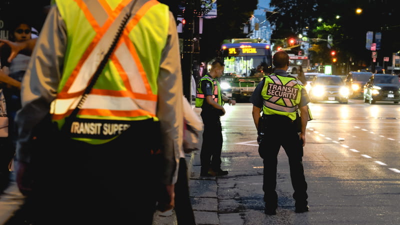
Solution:
{"label": "dark car at the right edge with headlights on", "polygon": [[400,101],[400,78],[390,74],[374,74],[364,86],[364,102]]}

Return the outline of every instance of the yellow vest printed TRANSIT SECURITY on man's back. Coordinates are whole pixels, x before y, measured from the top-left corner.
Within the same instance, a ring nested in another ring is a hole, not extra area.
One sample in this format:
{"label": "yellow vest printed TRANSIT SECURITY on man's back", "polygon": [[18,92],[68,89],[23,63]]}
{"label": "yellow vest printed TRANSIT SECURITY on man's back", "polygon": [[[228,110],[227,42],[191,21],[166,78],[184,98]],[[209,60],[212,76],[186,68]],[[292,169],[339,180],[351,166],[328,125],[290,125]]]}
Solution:
{"label": "yellow vest printed TRANSIT SECURITY on man's back", "polygon": [[285,115],[294,120],[301,99],[301,89],[304,86],[293,77],[274,73],[264,76],[264,79],[265,83],[261,90],[263,113]]}

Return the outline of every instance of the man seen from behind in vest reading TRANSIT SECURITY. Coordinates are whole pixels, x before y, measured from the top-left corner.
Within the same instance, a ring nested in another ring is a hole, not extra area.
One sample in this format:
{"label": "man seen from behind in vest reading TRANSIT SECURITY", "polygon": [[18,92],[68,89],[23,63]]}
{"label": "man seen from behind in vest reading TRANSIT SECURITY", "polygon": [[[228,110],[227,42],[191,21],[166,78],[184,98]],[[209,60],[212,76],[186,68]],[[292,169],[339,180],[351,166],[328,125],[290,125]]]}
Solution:
{"label": "man seen from behind in vest reading TRANSIT SECURITY", "polygon": [[[264,76],[250,98],[253,104],[252,116],[258,131],[258,153],[264,164],[262,189],[265,214],[276,214],[276,166],[280,146],[289,159],[295,212],[305,212],[309,208],[302,156],[305,127],[310,117],[307,106],[310,99],[301,81],[286,73],[289,65],[286,52],[276,52],[272,63],[275,66],[274,72]],[[295,122],[297,109],[301,115],[301,127],[296,126]]]}

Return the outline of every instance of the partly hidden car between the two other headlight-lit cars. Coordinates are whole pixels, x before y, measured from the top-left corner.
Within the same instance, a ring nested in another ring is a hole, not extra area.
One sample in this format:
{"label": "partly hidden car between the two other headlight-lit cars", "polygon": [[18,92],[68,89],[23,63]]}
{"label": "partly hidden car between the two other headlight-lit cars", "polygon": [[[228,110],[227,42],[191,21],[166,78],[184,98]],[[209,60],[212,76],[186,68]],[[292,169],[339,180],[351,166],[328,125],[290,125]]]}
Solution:
{"label": "partly hidden car between the two other headlight-lit cars", "polygon": [[349,97],[362,98],[364,95],[364,85],[371,77],[372,72],[355,72],[351,71],[344,79],[346,86],[350,90]]}

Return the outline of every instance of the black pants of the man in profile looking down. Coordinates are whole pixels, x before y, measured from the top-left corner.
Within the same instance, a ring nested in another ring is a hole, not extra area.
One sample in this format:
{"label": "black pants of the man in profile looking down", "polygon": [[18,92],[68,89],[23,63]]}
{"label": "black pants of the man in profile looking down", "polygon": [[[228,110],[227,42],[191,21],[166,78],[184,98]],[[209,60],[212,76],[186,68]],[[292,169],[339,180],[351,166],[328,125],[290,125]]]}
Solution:
{"label": "black pants of the man in profile looking down", "polygon": [[201,113],[204,123],[203,143],[200,152],[201,171],[208,168],[218,171],[221,167],[222,127],[219,116]]}

